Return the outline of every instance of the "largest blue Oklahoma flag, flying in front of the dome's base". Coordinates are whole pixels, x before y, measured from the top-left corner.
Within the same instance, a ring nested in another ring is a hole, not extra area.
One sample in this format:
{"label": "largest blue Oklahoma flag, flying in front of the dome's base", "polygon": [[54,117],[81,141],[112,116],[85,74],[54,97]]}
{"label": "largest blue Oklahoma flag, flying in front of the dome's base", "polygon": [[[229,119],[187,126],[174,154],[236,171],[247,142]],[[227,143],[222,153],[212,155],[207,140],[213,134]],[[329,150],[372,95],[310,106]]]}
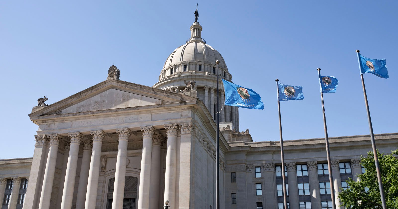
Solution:
{"label": "largest blue Oklahoma flag, flying in front of the dome's base", "polygon": [[233,84],[222,79],[225,91],[224,105],[243,107],[248,109],[264,109],[261,97],[250,88]]}

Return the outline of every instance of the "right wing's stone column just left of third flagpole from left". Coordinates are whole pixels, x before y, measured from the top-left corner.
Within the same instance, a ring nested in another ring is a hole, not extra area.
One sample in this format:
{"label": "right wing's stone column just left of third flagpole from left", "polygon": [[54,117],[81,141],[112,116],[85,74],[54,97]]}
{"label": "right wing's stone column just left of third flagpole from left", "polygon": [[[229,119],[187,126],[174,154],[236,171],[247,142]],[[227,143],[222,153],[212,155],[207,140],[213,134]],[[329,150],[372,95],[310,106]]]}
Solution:
{"label": "right wing's stone column just left of third flagpole from left", "polygon": [[318,162],[307,162],[308,178],[310,179],[311,205],[313,208],[321,208],[321,193],[318,180]]}

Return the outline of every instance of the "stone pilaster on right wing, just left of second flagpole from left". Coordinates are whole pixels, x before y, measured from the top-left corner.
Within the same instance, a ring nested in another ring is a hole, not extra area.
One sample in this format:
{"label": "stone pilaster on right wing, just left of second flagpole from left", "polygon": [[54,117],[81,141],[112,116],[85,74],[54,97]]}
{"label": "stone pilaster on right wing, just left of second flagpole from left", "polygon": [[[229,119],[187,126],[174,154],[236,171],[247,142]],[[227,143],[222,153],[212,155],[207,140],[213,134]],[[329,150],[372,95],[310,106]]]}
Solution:
{"label": "stone pilaster on right wing, just left of second flagpole from left", "polygon": [[262,164],[264,172],[264,196],[265,196],[265,208],[277,208],[277,193],[276,191],[276,173],[275,164],[266,163]]}

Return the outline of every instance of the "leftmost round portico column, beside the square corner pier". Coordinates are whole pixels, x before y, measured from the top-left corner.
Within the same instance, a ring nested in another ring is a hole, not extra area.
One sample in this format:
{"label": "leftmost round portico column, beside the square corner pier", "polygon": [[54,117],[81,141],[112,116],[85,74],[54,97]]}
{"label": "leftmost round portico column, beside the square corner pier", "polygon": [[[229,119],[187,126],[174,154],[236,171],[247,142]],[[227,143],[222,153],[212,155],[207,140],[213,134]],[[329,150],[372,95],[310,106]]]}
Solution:
{"label": "leftmost round portico column, beside the square corner pier", "polygon": [[43,186],[41,188],[39,209],[49,209],[51,192],[53,191],[55,164],[57,163],[58,146],[61,136],[59,134],[48,135],[50,149],[47,155],[46,170],[44,172]]}

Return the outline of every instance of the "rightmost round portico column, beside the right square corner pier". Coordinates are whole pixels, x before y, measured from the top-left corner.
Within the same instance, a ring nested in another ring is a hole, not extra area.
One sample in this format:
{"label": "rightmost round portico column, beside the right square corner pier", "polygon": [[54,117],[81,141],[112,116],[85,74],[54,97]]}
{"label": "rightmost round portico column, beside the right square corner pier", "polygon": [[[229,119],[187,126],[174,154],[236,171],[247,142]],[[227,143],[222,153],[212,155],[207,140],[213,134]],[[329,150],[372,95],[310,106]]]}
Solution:
{"label": "rightmost round portico column, beside the right square corner pier", "polygon": [[[213,106],[212,106],[213,107]],[[178,124],[164,125],[167,131],[166,174],[164,183],[164,201],[176,204],[176,161]]]}

